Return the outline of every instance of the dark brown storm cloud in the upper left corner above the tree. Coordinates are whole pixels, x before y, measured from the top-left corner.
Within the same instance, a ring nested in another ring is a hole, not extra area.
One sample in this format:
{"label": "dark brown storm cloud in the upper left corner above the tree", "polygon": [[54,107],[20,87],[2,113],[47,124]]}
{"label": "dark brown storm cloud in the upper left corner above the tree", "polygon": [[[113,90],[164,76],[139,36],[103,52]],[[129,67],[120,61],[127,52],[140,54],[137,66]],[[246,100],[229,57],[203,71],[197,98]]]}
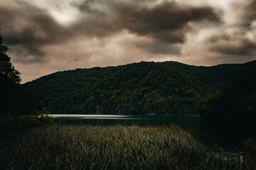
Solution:
{"label": "dark brown storm cloud in the upper left corner above the tree", "polygon": [[70,36],[68,30],[56,23],[46,11],[24,2],[18,4],[26,8],[26,11],[17,8],[1,8],[0,22],[4,29],[1,34],[7,45],[12,45],[11,50],[21,57],[33,55],[30,61],[41,62],[46,52],[42,50],[44,45],[61,42]]}

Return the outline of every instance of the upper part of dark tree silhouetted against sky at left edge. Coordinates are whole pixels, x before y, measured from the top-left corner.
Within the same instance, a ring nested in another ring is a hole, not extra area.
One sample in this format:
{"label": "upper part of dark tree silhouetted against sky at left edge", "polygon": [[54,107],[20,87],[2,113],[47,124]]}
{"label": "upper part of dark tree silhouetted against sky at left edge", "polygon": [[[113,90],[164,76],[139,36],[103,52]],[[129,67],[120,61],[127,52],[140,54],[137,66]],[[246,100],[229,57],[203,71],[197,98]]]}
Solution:
{"label": "upper part of dark tree silhouetted against sky at left edge", "polygon": [[20,84],[21,73],[14,69],[14,66],[11,64],[11,57],[9,57],[6,52],[8,47],[3,45],[3,38],[0,35],[0,74],[14,81],[15,84]]}

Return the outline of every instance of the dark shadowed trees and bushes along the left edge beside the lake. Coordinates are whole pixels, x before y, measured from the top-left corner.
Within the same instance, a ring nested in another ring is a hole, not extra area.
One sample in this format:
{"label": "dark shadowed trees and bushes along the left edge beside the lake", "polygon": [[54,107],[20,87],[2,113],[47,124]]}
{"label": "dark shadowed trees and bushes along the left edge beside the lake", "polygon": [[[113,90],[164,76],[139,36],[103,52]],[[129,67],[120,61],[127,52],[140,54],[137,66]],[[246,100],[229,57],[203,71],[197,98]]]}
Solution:
{"label": "dark shadowed trees and bushes along the left edge beside the lake", "polygon": [[53,123],[47,108],[42,108],[38,98],[21,86],[21,73],[11,63],[8,50],[0,35],[0,137],[3,139],[17,130]]}

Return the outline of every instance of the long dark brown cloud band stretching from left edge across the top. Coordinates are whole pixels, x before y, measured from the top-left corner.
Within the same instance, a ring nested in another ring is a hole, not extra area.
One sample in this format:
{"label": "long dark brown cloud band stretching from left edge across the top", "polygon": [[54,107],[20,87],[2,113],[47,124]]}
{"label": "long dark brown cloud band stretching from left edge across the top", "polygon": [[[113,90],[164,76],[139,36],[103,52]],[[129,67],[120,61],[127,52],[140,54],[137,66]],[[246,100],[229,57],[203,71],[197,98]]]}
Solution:
{"label": "long dark brown cloud band stretching from left edge across the top", "polygon": [[[177,54],[178,48],[171,47],[170,44],[185,42],[189,30],[188,22],[220,22],[220,18],[210,7],[181,6],[175,1],[164,1],[151,8],[145,2],[138,6],[135,4],[138,2],[134,1],[110,2],[90,0],[82,4],[71,3],[86,15],[67,27],[55,21],[45,9],[18,1],[19,7],[1,8],[0,21],[5,23],[6,28],[5,41],[13,45],[17,53],[23,49],[24,57],[17,61],[42,62],[47,60],[47,52],[42,50],[45,45],[58,44],[79,35],[87,38],[105,38],[127,29],[138,36],[153,38],[156,40],[154,44],[161,41],[163,46],[158,46],[159,50],[154,48],[149,52]],[[26,8],[26,11],[23,11],[23,8]],[[17,25],[18,28],[14,29]],[[145,45],[137,47],[149,49]],[[169,47],[169,50],[166,47]]]}

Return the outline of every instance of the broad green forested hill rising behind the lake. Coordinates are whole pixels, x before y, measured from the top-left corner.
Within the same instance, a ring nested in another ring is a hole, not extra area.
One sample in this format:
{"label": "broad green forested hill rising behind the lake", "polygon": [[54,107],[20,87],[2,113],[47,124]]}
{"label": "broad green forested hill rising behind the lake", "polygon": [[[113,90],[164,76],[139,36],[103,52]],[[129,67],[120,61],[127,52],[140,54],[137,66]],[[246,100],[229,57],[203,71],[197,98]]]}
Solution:
{"label": "broad green forested hill rising behind the lake", "polygon": [[23,84],[51,113],[192,114],[204,96],[256,73],[256,61],[196,67],[139,62],[56,72]]}

